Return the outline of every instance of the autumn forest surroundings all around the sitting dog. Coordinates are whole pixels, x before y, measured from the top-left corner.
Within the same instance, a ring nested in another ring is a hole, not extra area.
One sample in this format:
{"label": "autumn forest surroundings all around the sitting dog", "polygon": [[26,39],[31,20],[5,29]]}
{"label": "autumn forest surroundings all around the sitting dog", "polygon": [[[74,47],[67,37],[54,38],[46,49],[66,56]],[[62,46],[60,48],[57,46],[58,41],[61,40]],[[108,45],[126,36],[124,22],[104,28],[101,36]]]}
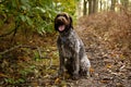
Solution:
{"label": "autumn forest surroundings all around the sitting dog", "polygon": [[[91,78],[57,77],[53,18],[69,13]],[[131,0],[0,0],[1,87],[131,87]]]}

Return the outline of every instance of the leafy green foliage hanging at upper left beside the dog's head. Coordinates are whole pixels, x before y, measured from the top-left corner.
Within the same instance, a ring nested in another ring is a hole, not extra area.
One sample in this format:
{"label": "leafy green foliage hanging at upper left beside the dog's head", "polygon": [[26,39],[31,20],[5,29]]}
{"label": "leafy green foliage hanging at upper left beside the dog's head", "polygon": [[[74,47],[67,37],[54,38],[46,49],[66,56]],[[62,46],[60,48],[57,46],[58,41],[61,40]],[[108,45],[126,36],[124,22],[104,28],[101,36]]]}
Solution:
{"label": "leafy green foliage hanging at upper left beside the dog's head", "polygon": [[43,35],[53,32],[53,18],[58,12],[74,14],[76,0],[1,0],[0,2],[0,13],[4,20],[13,17],[12,22],[21,29],[29,28],[31,32]]}

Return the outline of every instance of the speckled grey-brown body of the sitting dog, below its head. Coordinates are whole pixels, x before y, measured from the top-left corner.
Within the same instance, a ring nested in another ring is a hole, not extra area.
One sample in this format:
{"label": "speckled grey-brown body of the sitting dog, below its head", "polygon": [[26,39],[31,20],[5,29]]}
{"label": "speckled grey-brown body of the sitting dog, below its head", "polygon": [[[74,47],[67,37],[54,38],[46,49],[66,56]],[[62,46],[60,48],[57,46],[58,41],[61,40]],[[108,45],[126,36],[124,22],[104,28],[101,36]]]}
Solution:
{"label": "speckled grey-brown body of the sitting dog, below its head", "polygon": [[71,75],[90,75],[91,63],[87,59],[84,44],[73,28],[60,33],[57,46],[60,58],[59,73],[64,70]]}

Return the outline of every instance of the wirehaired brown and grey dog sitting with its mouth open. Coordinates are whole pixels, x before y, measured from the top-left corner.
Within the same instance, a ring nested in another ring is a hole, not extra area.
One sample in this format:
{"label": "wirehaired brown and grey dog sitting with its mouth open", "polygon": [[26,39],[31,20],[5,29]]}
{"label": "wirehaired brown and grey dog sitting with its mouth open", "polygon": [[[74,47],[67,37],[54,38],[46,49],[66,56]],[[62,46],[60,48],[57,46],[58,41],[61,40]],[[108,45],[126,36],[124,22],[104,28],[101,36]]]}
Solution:
{"label": "wirehaired brown and grey dog sitting with its mouth open", "polygon": [[90,75],[91,63],[87,59],[84,44],[73,29],[72,17],[68,13],[59,13],[55,18],[55,29],[59,32],[57,46],[59,50],[59,75],[64,70],[78,79]]}

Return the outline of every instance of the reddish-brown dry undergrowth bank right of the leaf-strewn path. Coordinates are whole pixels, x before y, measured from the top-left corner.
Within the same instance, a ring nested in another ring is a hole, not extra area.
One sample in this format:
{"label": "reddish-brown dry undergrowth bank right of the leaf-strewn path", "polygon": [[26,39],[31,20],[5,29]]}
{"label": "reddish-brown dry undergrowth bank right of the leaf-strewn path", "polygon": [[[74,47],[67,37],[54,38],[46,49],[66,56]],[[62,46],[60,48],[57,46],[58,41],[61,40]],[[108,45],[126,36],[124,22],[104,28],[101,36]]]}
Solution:
{"label": "reddish-brown dry undergrowth bank right of the leaf-strewn path", "polygon": [[80,18],[79,25],[84,26],[85,33],[90,34],[86,37],[95,37],[105,45],[106,49],[118,51],[121,58],[130,58],[131,12],[102,12],[83,16]]}

